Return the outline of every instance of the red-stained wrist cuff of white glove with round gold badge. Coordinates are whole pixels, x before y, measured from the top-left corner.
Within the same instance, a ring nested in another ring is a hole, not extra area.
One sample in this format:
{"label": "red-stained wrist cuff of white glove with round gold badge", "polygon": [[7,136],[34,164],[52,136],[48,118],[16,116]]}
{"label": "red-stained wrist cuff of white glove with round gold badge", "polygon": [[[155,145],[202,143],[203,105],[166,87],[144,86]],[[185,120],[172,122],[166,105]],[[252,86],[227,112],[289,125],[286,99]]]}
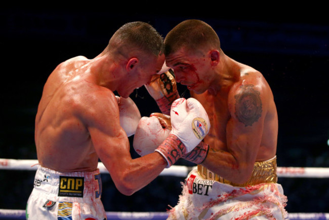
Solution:
{"label": "red-stained wrist cuff of white glove with round gold badge", "polygon": [[166,140],[155,149],[155,152],[160,153],[162,157],[166,159],[166,168],[169,168],[186,153],[186,147],[176,135],[170,134]]}

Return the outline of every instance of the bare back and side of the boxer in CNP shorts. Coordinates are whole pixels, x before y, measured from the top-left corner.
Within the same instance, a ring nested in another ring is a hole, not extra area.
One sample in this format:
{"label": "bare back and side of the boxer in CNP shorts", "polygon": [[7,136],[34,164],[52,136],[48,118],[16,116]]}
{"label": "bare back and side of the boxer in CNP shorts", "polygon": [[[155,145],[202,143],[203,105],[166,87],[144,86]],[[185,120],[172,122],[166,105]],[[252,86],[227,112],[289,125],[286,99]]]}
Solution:
{"label": "bare back and side of the boxer in CNP shorts", "polygon": [[[40,165],[61,172],[93,171],[98,157],[82,112],[98,86],[86,83],[89,60],[75,57],[60,64],[44,87],[35,120]],[[86,75],[86,77],[85,77]]]}

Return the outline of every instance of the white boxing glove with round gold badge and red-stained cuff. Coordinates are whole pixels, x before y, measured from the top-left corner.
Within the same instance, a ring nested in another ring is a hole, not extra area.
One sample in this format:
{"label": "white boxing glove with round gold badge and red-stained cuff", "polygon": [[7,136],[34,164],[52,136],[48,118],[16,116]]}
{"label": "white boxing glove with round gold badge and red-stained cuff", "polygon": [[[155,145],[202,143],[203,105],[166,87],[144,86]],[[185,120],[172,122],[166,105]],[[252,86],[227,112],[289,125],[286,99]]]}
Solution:
{"label": "white boxing glove with round gold badge and red-stained cuff", "polygon": [[167,161],[167,168],[192,152],[208,134],[210,121],[205,109],[194,98],[175,100],[170,111],[172,130],[155,152]]}

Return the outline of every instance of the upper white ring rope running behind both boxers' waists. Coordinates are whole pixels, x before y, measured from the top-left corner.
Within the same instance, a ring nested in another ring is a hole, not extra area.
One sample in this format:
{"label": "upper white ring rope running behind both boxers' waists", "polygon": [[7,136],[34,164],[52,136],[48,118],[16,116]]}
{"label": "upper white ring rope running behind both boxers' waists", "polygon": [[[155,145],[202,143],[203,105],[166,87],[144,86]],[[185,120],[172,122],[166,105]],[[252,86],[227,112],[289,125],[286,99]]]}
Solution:
{"label": "upper white ring rope running behind both boxers' waists", "polygon": [[[0,159],[0,169],[36,170],[37,160]],[[98,163],[101,173],[108,173],[102,162]],[[194,167],[173,165],[163,170],[160,175],[186,177]],[[324,167],[277,167],[278,177],[328,178],[329,168]]]}

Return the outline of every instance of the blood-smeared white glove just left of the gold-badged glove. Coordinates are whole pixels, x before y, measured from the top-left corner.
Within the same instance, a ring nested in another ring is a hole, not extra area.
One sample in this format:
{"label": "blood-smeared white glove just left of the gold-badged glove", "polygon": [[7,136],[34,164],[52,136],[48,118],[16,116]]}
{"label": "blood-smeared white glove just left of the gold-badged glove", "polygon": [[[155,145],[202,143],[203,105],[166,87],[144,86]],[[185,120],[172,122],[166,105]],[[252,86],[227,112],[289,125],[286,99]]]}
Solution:
{"label": "blood-smeared white glove just left of the gold-badged glove", "polygon": [[153,153],[170,132],[170,116],[153,113],[150,117],[142,117],[134,135],[133,147],[140,156]]}

